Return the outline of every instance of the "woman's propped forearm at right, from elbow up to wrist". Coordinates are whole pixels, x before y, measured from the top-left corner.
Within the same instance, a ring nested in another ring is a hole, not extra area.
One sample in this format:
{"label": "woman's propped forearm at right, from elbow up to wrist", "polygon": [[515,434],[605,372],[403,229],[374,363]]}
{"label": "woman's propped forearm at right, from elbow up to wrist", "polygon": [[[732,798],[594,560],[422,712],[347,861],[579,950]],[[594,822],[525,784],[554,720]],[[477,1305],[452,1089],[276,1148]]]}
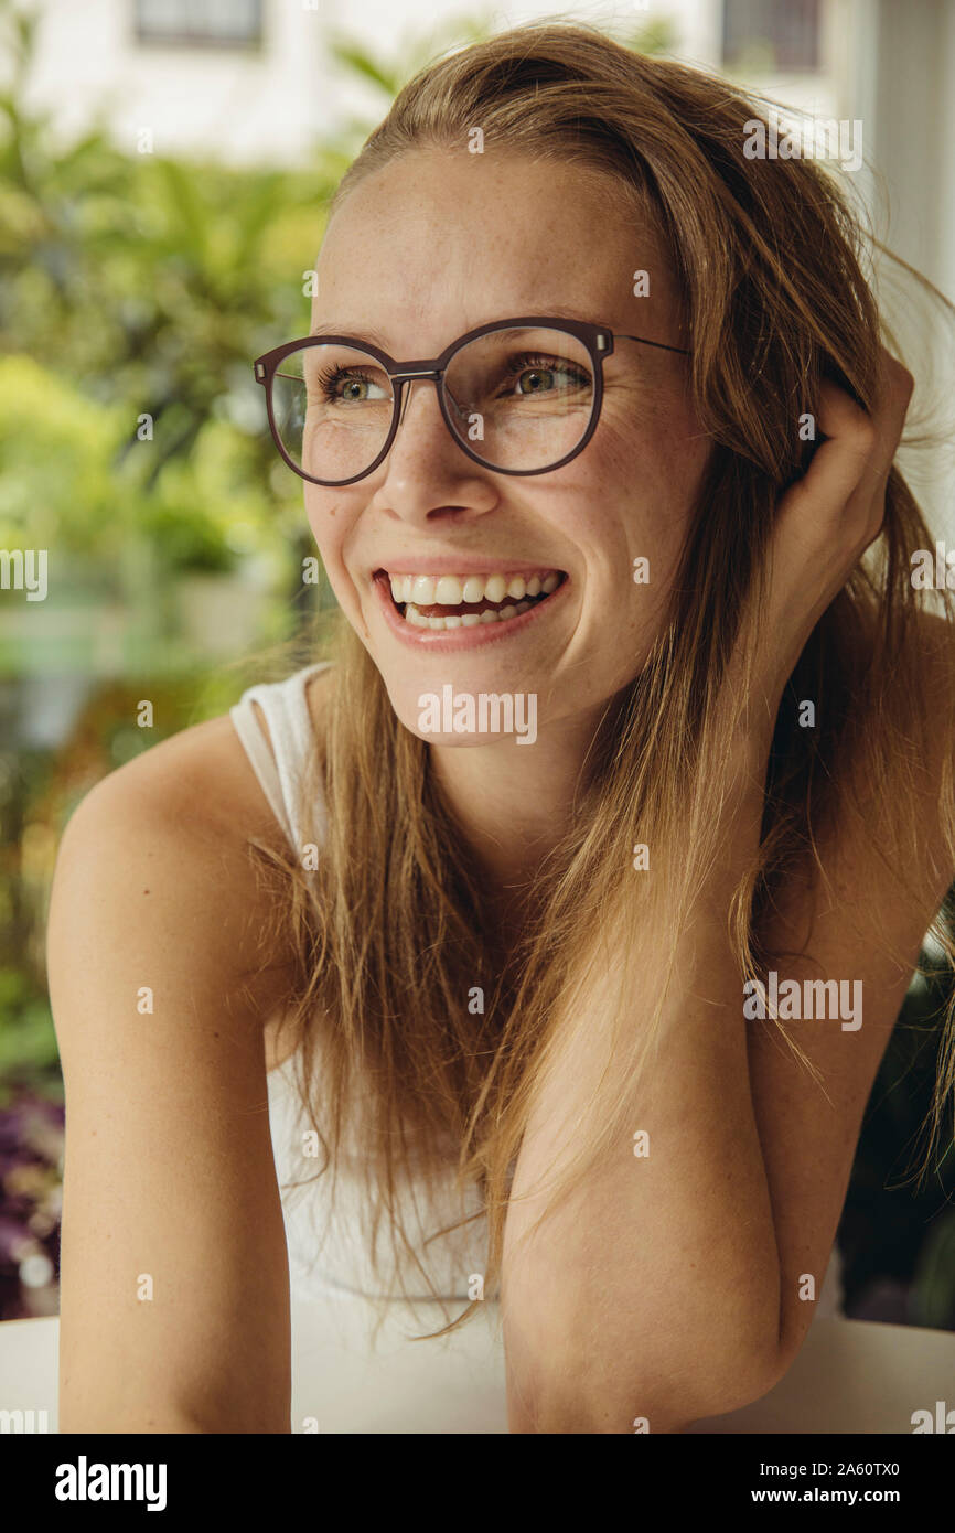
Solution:
{"label": "woman's propped forearm at right, from elbow up to wrist", "polygon": [[[736,845],[759,834],[745,800],[728,832],[733,823]],[[725,941],[733,845],[722,885],[714,874],[693,940],[682,944],[627,1136],[533,1236],[546,1197],[509,1208],[503,1315],[512,1432],[632,1432],[638,1416],[651,1432],[668,1432],[770,1387],[780,1277],[742,986]],[[665,869],[655,875],[665,878]],[[625,1044],[659,995],[653,949],[667,950],[664,937],[647,943],[639,992],[627,996],[613,984],[621,966],[610,940],[586,1003],[564,1018],[567,1052],[538,1090],[515,1199],[561,1168],[563,1151],[592,1128],[587,1102],[604,1072],[613,1078],[612,1009],[625,1010]],[[635,1134],[645,1134],[639,1148],[648,1153],[635,1154]]]}

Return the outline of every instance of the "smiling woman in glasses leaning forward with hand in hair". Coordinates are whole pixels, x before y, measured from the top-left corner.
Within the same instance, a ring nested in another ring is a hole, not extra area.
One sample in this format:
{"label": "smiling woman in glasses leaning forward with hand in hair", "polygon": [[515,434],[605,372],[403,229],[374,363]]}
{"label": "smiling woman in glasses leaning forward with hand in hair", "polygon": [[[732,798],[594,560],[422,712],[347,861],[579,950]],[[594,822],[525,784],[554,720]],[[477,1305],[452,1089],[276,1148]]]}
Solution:
{"label": "smiling woman in glasses leaning forward with hand in hair", "polygon": [[860,231],[754,115],[521,28],[345,176],[256,363],[334,664],[60,852],[66,1430],[288,1430],[267,1072],[325,1280],[500,1294],[514,1432],[676,1432],[797,1355],[955,871],[952,644]]}

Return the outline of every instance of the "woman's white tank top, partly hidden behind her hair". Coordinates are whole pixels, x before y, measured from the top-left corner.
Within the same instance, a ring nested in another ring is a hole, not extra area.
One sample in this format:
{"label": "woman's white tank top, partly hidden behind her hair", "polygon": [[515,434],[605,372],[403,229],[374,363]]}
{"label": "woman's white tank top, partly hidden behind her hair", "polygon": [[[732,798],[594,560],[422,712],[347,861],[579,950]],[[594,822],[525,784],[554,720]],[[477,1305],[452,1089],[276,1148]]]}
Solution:
{"label": "woman's white tank top, partly hidden behind her hair", "polygon": [[[297,820],[297,789],[308,753],[314,747],[305,688],[308,681],[330,664],[330,661],[320,661],[307,665],[281,682],[259,682],[244,691],[239,702],[230,708],[231,721],[262,785],[262,793],[296,852],[300,852],[305,840]],[[256,719],[253,702],[258,702],[265,714],[274,757]],[[319,834],[325,825],[325,805],[316,805]],[[294,1085],[296,1064],[297,1059],[293,1055],[268,1075],[271,1142],[276,1173],[282,1187],[282,1213],[293,1292],[316,1295],[334,1291],[397,1302],[400,1291],[389,1274],[388,1260],[383,1259],[380,1269],[385,1274],[385,1282],[372,1265],[368,1242],[360,1228],[354,1190],[350,1196],[346,1162],[342,1162],[339,1171],[334,1210],[330,1206],[328,1197],[331,1173],[317,1180],[305,1182],[300,1188],[287,1190],[284,1187],[288,1180],[313,1176],[316,1170],[316,1160],[304,1154],[307,1124],[300,1116]],[[353,1145],[351,1153],[356,1157],[360,1156],[360,1144]],[[354,1173],[351,1185],[354,1188]],[[431,1240],[426,1248],[425,1240],[443,1223],[460,1219],[463,1213],[478,1213],[480,1206],[477,1190],[472,1190],[469,1197],[461,1197],[451,1173],[446,1188],[440,1190],[437,1199],[429,1199],[425,1188],[411,1185],[402,1200],[408,1234],[441,1298],[466,1302],[477,1297],[475,1279],[483,1275],[487,1249],[486,1219],[481,1214],[451,1236]],[[388,1249],[386,1228],[380,1239],[380,1248]],[[411,1257],[403,1260],[402,1271],[406,1292],[415,1300],[428,1300],[431,1297],[428,1285]],[[840,1260],[838,1249],[834,1246],[814,1320],[838,1314],[840,1308]]]}

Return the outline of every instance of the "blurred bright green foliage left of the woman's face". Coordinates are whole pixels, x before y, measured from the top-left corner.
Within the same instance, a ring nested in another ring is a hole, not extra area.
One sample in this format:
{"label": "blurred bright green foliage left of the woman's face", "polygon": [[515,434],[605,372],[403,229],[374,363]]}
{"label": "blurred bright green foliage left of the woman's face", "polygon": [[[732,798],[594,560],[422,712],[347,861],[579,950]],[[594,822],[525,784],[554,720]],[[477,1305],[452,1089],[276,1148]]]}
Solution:
{"label": "blurred bright green foliage left of the woman's face", "polygon": [[[304,270],[337,166],[235,170],[63,147],[29,107],[37,17],[0,6],[0,540],[109,567],[230,570],[288,587],[300,486],[281,471],[251,360],[307,327]],[[150,417],[149,423],[143,417]],[[141,541],[155,560],[129,556]],[[276,572],[279,573],[279,572]],[[86,572],[83,572],[86,578]],[[132,592],[133,599],[138,592]]]}

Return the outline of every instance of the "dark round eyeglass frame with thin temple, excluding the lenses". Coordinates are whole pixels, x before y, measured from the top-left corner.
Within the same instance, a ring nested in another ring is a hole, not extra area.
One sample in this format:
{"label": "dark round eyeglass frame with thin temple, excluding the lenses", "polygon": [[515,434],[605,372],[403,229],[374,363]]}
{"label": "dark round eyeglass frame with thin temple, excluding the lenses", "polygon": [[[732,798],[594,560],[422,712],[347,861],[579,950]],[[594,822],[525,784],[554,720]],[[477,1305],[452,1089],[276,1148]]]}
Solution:
{"label": "dark round eyeglass frame with thin temple, excluding the lenses", "polygon": [[[486,458],[480,455],[480,452],[475,452],[472,446],[469,446],[466,442],[461,440],[451,420],[443,386],[445,373],[448,371],[448,366],[451,365],[455,354],[463,346],[466,346],[471,340],[477,340],[480,336],[489,336],[495,330],[560,330],[564,331],[564,334],[573,336],[576,340],[583,342],[590,356],[590,362],[593,366],[593,402],[590,405],[590,420],[587,423],[587,429],[584,431],[576,446],[570,449],[570,452],[566,452],[563,458],[558,458],[555,463],[549,463],[543,469],[503,469],[497,463],[487,463]],[[615,342],[618,340],[636,340],[642,346],[655,346],[659,351],[676,351],[684,357],[691,356],[691,353],[685,346],[670,346],[665,345],[662,340],[647,340],[645,336],[615,334],[609,325],[592,325],[581,319],[555,319],[553,316],[547,314],[524,314],[518,319],[495,319],[487,325],[478,325],[477,330],[469,330],[464,336],[458,336],[457,340],[452,340],[449,346],[445,346],[445,350],[438,357],[420,357],[411,362],[397,362],[394,357],[389,357],[386,351],[382,351],[380,346],[374,346],[369,340],[362,340],[357,336],[304,336],[302,340],[287,340],[285,345],[276,346],[273,351],[267,351],[264,356],[256,357],[253,363],[253,371],[256,382],[261,383],[262,388],[265,389],[268,426],[273,435],[273,442],[279,449],[279,454],[282,455],[288,468],[299,475],[299,478],[308,480],[311,484],[322,484],[328,489],[339,489],[343,484],[356,484],[359,480],[363,480],[369,474],[374,474],[379,464],[383,463],[385,458],[388,457],[391,445],[397,435],[397,429],[402,420],[402,399],[405,385],[417,379],[429,379],[434,383],[438,396],[441,415],[445,419],[445,425],[451,432],[452,442],[455,443],[455,446],[461,449],[461,452],[468,454],[468,457],[472,458],[474,463],[480,463],[483,469],[491,469],[492,474],[512,474],[524,477],[529,474],[552,474],[553,469],[563,468],[564,463],[570,463],[570,460],[575,458],[578,452],[584,451],[584,448],[590,442],[590,437],[596,431],[596,423],[599,420],[601,405],[604,400],[604,357],[613,356],[613,346]],[[388,428],[388,435],[385,437],[385,443],[380,452],[377,454],[374,461],[368,464],[366,469],[362,469],[360,474],[353,474],[351,478],[343,478],[343,480],[316,478],[314,474],[307,474],[305,469],[299,468],[299,464],[293,461],[293,458],[285,451],[285,445],[282,442],[281,432],[276,425],[273,402],[271,402],[273,380],[276,377],[279,365],[285,360],[285,357],[288,357],[293,351],[300,351],[304,346],[328,346],[328,345],[351,346],[354,351],[365,351],[368,356],[374,357],[376,362],[380,362],[385,373],[388,374],[394,391],[391,426]]]}

